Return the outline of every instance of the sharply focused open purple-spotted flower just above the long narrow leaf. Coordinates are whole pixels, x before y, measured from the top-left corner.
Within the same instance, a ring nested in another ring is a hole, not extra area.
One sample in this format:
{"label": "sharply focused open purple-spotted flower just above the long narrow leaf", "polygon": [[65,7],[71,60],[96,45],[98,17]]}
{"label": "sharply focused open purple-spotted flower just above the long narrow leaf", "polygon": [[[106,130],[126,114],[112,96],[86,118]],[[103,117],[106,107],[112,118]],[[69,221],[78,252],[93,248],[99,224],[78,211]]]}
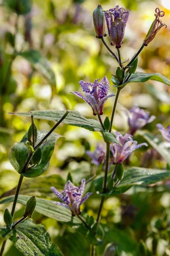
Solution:
{"label": "sharply focused open purple-spotted flower just above the long narrow leaf", "polygon": [[[109,80],[107,76],[105,76],[100,82],[100,79],[96,79],[93,83],[86,83],[85,81],[79,81],[79,84],[82,87],[82,90],[85,92],[86,98],[79,92],[71,92],[80,98],[84,99],[88,105],[93,109],[93,114],[96,116],[97,113],[99,115],[103,114],[103,107],[105,102],[109,97],[115,96],[114,94],[110,94],[107,96],[109,91]],[[91,87],[91,89],[89,88]]]}

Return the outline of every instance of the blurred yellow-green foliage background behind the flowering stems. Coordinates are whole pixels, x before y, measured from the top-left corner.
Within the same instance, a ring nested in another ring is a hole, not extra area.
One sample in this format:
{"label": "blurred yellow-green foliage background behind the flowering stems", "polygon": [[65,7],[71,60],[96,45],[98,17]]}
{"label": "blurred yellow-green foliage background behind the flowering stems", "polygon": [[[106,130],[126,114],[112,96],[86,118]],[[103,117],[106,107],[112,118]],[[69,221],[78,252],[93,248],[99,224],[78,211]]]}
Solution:
{"label": "blurred yellow-green foliage background behind the flowering stems", "polygon": [[[158,72],[170,79],[169,0],[33,0],[31,13],[18,19],[15,49],[36,49],[50,62],[56,78],[57,93],[51,99],[52,89],[48,80],[26,59],[21,56],[15,58],[11,65],[12,79],[8,82],[8,87],[1,90],[0,95],[0,195],[17,185],[19,175],[9,163],[8,153],[13,143],[19,142],[30,126],[28,118],[12,116],[8,112],[70,109],[81,112],[85,117],[94,118],[91,108],[70,92],[81,92],[78,83],[81,79],[91,82],[107,75],[110,80],[117,67],[116,61],[108,55],[102,42],[95,38],[92,14],[99,3],[104,9],[116,5],[130,9],[121,48],[123,60],[131,58],[141,46],[153,22],[156,7],[165,12],[162,21],[167,24],[167,28],[161,29],[156,38],[144,48],[139,57],[138,71]],[[0,6],[1,66],[8,65],[9,55],[14,49],[9,32],[14,35],[16,18],[17,15],[6,6]],[[109,38],[106,37],[105,40],[109,44]],[[111,49],[115,51],[114,47]],[[2,87],[3,82],[0,83]],[[116,92],[112,86],[110,91]],[[112,105],[113,99],[110,98],[105,105],[105,116],[110,116]],[[116,130],[128,130],[124,110],[134,105],[156,115],[156,120],[147,125],[147,129],[159,137],[156,123],[161,122],[165,126],[170,123],[170,88],[157,81],[127,84],[121,92],[117,106],[114,121]],[[35,123],[39,129],[45,130],[54,125],[53,122],[43,120],[35,120]],[[44,189],[39,189],[43,176],[61,175],[59,182],[62,188],[68,172],[73,175],[74,182],[79,182],[82,177],[89,177],[93,171],[85,151],[93,151],[99,142],[102,143],[100,135],[64,124],[57,128],[57,132],[65,138],[58,140],[50,168],[34,181],[25,178],[23,193],[49,197],[51,180],[44,183]],[[140,138],[138,140],[140,141]],[[152,148],[133,154],[130,157],[130,165],[166,168],[166,162]],[[105,228],[105,244],[116,242],[118,255],[137,256],[139,241],[143,239],[150,255],[170,255],[169,184],[166,181],[159,183],[159,186],[157,184],[147,188],[133,187],[124,195],[108,198],[101,219],[103,225],[110,227]],[[94,218],[99,200],[100,198],[94,195],[84,206],[84,210]],[[4,224],[3,209],[4,206],[0,205],[1,225]],[[23,208],[17,205],[16,218],[22,211]],[[34,213],[34,220],[45,225],[52,240],[59,245],[65,256],[88,255],[88,243],[71,228],[37,213]],[[104,246],[98,247],[99,256],[102,256],[103,250]],[[5,255],[20,253],[8,242]]]}

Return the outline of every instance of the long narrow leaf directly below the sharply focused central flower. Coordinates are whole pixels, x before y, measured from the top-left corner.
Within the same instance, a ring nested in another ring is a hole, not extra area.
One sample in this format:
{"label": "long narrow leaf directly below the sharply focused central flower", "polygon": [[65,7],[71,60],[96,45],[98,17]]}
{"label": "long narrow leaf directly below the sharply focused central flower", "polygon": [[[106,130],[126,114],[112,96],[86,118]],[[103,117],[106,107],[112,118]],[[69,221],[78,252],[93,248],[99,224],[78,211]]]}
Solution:
{"label": "long narrow leaf directly below the sharply focused central flower", "polygon": [[[65,111],[57,111],[57,110],[45,110],[45,111],[28,111],[28,112],[14,112],[10,113],[17,116],[31,116],[33,115],[34,118],[37,119],[45,119],[49,121],[58,122],[59,119],[64,115]],[[114,138],[112,135],[109,135],[108,132],[102,129],[100,123],[95,119],[88,119],[82,116],[79,111],[69,111],[68,116],[62,121],[65,124],[78,126],[85,128],[89,131],[100,131],[105,134],[105,140],[109,142],[113,142]],[[115,143],[118,141],[115,139]]]}

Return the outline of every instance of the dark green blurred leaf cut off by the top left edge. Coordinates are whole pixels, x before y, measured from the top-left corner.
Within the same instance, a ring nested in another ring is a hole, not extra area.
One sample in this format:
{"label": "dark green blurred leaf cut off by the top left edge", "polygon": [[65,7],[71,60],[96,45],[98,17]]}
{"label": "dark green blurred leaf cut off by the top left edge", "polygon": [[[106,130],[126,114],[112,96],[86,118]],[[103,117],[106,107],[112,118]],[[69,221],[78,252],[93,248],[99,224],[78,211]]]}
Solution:
{"label": "dark green blurred leaf cut off by the top left edge", "polygon": [[3,3],[18,15],[25,15],[31,11],[31,0],[3,0]]}

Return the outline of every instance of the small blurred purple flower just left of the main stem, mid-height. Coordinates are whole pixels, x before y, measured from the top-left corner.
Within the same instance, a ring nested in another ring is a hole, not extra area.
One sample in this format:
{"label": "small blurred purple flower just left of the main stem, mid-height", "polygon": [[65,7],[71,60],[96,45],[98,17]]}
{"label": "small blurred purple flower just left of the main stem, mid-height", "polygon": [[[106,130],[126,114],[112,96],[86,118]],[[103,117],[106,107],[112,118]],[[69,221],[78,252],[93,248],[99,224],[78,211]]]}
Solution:
{"label": "small blurred purple flower just left of the main stem, mid-height", "polygon": [[94,152],[87,150],[85,151],[85,153],[88,155],[88,157],[91,158],[91,163],[94,163],[96,166],[99,166],[101,163],[105,161],[106,151],[104,149],[104,146],[101,144],[98,144],[96,146]]}

